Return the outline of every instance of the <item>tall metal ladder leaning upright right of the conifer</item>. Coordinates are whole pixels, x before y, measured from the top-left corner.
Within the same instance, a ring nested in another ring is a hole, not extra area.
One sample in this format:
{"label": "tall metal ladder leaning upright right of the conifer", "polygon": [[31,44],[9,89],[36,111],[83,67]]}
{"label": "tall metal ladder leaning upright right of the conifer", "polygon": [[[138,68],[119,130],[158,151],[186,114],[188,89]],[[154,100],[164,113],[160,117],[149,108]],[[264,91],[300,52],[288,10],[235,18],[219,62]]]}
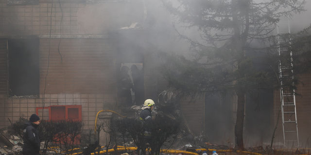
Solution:
{"label": "tall metal ladder leaning upright right of the conifer", "polygon": [[[280,79],[280,97],[282,101],[282,126],[284,146],[299,146],[298,124],[296,112],[295,90],[290,85],[293,76],[293,53],[288,47],[282,45],[290,45],[290,39],[284,39],[281,34],[290,34],[289,19],[281,19],[277,26],[278,35],[278,54],[279,54],[279,79]],[[290,38],[290,37],[288,37]]]}

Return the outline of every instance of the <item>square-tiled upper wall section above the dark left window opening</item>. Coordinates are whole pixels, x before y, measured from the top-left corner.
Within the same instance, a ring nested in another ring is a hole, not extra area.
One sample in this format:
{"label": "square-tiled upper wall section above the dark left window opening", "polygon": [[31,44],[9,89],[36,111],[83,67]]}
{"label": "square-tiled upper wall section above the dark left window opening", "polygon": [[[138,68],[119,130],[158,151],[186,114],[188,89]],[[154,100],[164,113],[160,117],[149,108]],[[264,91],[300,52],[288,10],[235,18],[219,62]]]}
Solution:
{"label": "square-tiled upper wall section above the dark left window opening", "polygon": [[[78,34],[78,3],[8,5],[0,1],[0,34]],[[61,7],[60,7],[61,6]],[[52,14],[51,14],[52,10]],[[61,23],[62,21],[62,23]]]}

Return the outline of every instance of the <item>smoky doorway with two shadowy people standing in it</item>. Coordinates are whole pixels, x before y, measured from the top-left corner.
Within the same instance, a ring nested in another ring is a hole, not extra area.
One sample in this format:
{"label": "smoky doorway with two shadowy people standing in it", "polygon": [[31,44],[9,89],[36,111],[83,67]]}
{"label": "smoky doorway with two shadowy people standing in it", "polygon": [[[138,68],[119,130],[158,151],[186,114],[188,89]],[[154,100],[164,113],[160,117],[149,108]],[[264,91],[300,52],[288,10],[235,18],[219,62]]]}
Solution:
{"label": "smoky doorway with two shadowy people standing in it", "polygon": [[117,67],[118,107],[124,109],[142,105],[145,100],[144,52],[135,42],[120,42]]}

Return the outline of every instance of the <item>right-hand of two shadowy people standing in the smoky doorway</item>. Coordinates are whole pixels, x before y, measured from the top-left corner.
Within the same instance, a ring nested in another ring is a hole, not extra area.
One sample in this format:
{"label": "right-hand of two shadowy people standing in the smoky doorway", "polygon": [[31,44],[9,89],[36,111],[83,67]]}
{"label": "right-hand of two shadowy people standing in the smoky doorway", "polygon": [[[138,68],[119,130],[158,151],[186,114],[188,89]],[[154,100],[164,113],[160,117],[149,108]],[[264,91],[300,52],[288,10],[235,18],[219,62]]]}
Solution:
{"label": "right-hand of two shadowy people standing in the smoky doorway", "polygon": [[135,90],[134,101],[136,105],[140,105],[145,100],[144,73],[141,70],[139,70],[135,64],[131,66],[131,71]]}

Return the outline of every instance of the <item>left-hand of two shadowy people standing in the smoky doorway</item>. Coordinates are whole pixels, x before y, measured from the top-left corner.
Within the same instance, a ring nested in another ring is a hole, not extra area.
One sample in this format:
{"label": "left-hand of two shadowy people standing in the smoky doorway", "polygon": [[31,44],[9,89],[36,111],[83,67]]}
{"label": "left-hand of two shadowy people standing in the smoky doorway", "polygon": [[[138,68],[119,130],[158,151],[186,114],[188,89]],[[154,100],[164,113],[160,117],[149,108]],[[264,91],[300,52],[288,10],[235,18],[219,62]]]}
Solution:
{"label": "left-hand of two shadowy people standing in the smoky doorway", "polygon": [[132,101],[132,91],[134,90],[134,86],[132,83],[132,79],[130,78],[130,75],[128,74],[128,71],[130,68],[128,66],[122,66],[120,75],[118,76],[118,80],[120,83],[120,96],[121,98],[125,98],[125,102],[121,102],[122,106],[130,107],[133,106]]}

